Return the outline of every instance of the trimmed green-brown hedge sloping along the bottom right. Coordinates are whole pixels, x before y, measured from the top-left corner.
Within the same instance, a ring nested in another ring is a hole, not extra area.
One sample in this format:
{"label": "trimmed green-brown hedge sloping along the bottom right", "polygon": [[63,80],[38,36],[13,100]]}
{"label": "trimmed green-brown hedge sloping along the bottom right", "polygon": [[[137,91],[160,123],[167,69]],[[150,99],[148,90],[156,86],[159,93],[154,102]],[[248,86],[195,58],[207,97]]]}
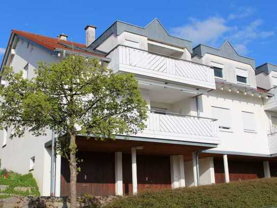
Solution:
{"label": "trimmed green-brown hedge sloping along the bottom right", "polygon": [[106,208],[277,207],[277,178],[145,192],[119,197]]}

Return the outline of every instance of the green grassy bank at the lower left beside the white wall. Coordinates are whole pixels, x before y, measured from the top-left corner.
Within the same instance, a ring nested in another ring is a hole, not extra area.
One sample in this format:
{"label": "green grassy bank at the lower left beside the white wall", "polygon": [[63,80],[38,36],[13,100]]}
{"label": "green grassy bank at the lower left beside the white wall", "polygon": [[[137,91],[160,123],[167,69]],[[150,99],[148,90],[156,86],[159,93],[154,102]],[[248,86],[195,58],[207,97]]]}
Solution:
{"label": "green grassy bank at the lower left beside the white wall", "polygon": [[[8,177],[5,177],[8,176]],[[7,198],[10,195],[19,195],[19,196],[40,196],[38,191],[38,186],[36,180],[34,179],[31,173],[21,175],[15,172],[8,172],[6,170],[0,171],[0,184],[8,185],[9,188],[5,191],[0,191],[0,193],[5,193],[5,195],[0,195],[0,198]],[[32,187],[31,191],[15,191],[15,187]]]}

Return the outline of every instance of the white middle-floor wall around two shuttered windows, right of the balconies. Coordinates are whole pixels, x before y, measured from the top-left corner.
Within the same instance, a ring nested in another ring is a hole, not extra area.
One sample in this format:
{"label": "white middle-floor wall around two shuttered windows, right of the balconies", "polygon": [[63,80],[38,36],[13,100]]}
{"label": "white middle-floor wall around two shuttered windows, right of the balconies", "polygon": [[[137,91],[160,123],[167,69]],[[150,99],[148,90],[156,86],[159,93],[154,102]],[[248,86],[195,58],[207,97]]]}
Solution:
{"label": "white middle-floor wall around two shuttered windows, right of the balconies", "polygon": [[[223,107],[231,110],[232,132],[219,131],[221,144],[213,150],[268,154],[267,132],[268,115],[263,110],[261,98],[237,94],[225,90],[213,90],[209,96],[203,95],[203,112],[200,115],[212,117],[212,107]],[[241,111],[253,112],[256,132],[244,132]],[[216,119],[216,118],[215,118]]]}

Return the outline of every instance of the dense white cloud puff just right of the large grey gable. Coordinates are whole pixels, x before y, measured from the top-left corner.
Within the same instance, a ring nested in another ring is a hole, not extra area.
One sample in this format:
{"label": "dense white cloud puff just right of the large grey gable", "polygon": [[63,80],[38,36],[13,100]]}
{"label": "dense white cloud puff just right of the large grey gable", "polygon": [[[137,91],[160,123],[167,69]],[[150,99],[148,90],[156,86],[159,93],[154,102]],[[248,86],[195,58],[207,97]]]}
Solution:
{"label": "dense white cloud puff just right of the large grey gable", "polygon": [[172,28],[173,35],[198,42],[216,41],[221,35],[229,31],[225,20],[219,17],[210,17],[203,21],[190,19],[190,24]]}

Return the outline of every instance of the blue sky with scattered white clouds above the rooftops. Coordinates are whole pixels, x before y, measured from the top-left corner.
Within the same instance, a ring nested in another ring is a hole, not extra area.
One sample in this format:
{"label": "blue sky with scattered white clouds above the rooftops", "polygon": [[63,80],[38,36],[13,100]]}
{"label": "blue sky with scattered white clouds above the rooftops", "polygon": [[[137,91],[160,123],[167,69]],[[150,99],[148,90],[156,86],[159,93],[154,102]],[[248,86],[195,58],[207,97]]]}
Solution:
{"label": "blue sky with scattered white clouds above the rooftops", "polygon": [[219,47],[229,40],[256,65],[277,64],[276,1],[7,1],[0,2],[0,60],[11,29],[85,42],[86,25],[97,26],[96,36],[115,20],[146,26],[157,17],[175,36]]}

